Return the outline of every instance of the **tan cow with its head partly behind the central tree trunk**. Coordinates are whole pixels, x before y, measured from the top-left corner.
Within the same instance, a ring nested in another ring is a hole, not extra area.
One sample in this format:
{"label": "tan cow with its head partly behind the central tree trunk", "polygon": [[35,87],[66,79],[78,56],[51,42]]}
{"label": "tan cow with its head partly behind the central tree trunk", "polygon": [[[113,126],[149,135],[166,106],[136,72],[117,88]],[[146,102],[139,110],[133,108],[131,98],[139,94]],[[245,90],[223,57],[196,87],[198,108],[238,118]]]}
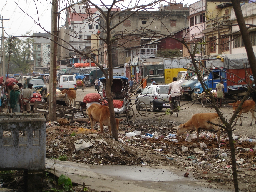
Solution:
{"label": "tan cow with its head partly behind the central tree trunk", "polygon": [[[87,115],[91,121],[91,130],[94,129],[96,122],[100,123],[100,132],[103,133],[103,125],[108,126],[109,133],[112,135],[110,126],[110,114],[108,106],[98,105],[96,103],[92,104],[87,110]],[[119,122],[123,119],[116,118],[116,129],[118,131]]]}

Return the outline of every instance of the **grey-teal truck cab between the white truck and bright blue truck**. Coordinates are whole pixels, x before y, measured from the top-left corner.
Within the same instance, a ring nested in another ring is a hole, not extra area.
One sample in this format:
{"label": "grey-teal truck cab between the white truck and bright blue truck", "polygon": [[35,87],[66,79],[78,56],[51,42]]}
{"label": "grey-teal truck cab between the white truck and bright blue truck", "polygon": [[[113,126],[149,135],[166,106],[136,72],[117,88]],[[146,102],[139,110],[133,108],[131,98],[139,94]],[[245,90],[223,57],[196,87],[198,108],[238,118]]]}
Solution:
{"label": "grey-teal truck cab between the white truck and bright blue truck", "polygon": [[190,76],[188,81],[181,85],[182,94],[187,101],[195,99],[194,85],[198,82],[197,74]]}

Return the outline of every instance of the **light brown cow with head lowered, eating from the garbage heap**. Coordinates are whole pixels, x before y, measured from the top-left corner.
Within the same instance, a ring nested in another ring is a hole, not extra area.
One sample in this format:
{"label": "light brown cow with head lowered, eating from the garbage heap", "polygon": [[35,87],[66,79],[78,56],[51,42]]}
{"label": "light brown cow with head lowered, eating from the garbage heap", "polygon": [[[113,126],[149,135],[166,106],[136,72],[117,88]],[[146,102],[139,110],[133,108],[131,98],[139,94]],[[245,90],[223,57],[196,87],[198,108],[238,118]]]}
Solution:
{"label": "light brown cow with head lowered, eating from the garbage heap", "polygon": [[217,113],[197,113],[197,114],[194,114],[192,118],[188,120],[186,123],[178,126],[178,131],[176,133],[176,136],[180,136],[186,131],[190,131],[190,133],[192,133],[193,131],[197,131],[197,141],[199,142],[200,129],[204,129],[204,130],[215,129],[218,136],[218,143],[220,144],[220,127],[207,123],[206,121],[210,121],[218,125],[222,124]]}

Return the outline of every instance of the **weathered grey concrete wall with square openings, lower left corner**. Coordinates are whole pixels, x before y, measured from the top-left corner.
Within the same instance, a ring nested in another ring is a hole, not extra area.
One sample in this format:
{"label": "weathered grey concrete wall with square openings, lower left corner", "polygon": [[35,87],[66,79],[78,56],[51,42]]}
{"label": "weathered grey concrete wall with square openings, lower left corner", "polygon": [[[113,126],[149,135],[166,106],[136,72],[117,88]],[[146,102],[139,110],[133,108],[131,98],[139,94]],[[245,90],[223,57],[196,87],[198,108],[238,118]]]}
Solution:
{"label": "weathered grey concrete wall with square openings, lower left corner", "polygon": [[0,113],[0,170],[44,170],[45,139],[46,121],[38,113]]}

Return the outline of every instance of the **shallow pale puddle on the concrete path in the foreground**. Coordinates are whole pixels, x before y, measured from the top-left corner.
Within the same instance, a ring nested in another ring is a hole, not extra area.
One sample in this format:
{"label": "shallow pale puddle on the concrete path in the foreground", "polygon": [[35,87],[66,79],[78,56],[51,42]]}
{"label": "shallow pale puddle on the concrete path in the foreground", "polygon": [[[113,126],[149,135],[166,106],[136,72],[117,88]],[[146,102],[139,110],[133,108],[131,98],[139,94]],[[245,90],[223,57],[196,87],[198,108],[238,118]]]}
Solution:
{"label": "shallow pale puddle on the concrete path in the foreground", "polygon": [[166,170],[142,166],[92,166],[91,171],[116,177],[117,180],[133,181],[177,181],[183,177]]}

